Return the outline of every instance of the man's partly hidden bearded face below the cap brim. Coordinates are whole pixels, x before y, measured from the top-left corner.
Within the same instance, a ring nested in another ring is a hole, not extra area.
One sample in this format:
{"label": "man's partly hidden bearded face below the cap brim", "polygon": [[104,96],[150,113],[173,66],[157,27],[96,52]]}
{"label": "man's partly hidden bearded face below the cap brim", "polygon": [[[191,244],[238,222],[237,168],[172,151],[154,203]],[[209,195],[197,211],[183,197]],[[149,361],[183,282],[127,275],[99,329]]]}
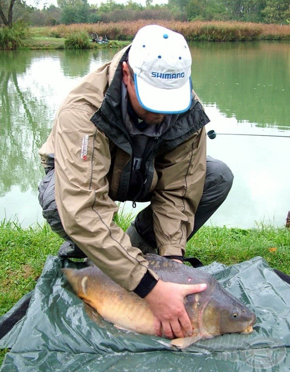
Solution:
{"label": "man's partly hidden bearded face below the cap brim", "polygon": [[128,64],[123,62],[122,64],[122,71],[123,71],[123,82],[127,86],[127,93],[131,102],[131,105],[137,114],[137,116],[144,120],[146,124],[153,125],[153,124],[160,124],[162,123],[165,114],[159,114],[156,112],[145,110],[138,101],[135,84],[133,78],[131,78],[131,74],[129,71]]}

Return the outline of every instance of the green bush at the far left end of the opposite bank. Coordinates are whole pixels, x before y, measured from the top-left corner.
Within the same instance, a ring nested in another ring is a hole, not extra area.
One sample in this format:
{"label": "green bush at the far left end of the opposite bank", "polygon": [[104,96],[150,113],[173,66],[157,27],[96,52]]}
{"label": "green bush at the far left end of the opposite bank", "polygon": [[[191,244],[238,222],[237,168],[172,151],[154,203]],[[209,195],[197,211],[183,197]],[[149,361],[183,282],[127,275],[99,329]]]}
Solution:
{"label": "green bush at the far left end of the opposite bank", "polygon": [[16,49],[28,36],[28,27],[21,23],[16,23],[13,27],[0,27],[0,49]]}

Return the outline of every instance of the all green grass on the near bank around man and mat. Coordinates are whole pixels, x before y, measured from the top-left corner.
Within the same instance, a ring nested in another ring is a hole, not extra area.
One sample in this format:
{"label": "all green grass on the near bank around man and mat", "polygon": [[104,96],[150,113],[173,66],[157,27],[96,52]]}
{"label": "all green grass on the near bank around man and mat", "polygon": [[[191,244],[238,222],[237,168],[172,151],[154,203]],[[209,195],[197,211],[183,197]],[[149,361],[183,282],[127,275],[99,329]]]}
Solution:
{"label": "all green grass on the near bank around man and mat", "polygon": [[[115,216],[123,230],[132,219],[123,210]],[[46,224],[23,229],[16,218],[0,222],[0,316],[34,288],[47,255],[57,255],[61,243]],[[218,261],[226,265],[261,256],[271,267],[290,275],[290,229],[263,223],[248,230],[202,227],[187,243],[186,255],[204,264]],[[0,351],[0,364],[8,351]]]}

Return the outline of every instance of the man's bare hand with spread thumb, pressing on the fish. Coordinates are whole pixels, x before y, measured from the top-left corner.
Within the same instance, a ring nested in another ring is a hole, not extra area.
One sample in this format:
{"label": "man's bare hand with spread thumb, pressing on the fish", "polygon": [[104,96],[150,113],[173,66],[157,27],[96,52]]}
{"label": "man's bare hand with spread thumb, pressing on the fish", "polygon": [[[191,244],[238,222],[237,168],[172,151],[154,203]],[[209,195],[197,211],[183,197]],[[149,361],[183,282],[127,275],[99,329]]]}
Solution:
{"label": "man's bare hand with spread thumb, pressing on the fish", "polygon": [[206,289],[206,284],[176,284],[158,280],[153,290],[144,298],[155,316],[155,334],[165,334],[168,339],[185,337],[193,329],[184,308],[184,297]]}

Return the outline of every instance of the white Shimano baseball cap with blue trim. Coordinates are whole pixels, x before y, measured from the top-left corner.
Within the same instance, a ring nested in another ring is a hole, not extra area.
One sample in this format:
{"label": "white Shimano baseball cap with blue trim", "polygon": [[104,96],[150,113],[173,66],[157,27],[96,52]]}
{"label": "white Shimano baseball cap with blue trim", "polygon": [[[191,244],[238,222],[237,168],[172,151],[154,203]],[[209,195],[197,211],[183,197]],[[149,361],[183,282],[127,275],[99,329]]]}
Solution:
{"label": "white Shimano baseball cap with blue trim", "polygon": [[149,25],[136,34],[128,62],[140,105],[158,113],[180,113],[191,104],[191,54],[180,33]]}

